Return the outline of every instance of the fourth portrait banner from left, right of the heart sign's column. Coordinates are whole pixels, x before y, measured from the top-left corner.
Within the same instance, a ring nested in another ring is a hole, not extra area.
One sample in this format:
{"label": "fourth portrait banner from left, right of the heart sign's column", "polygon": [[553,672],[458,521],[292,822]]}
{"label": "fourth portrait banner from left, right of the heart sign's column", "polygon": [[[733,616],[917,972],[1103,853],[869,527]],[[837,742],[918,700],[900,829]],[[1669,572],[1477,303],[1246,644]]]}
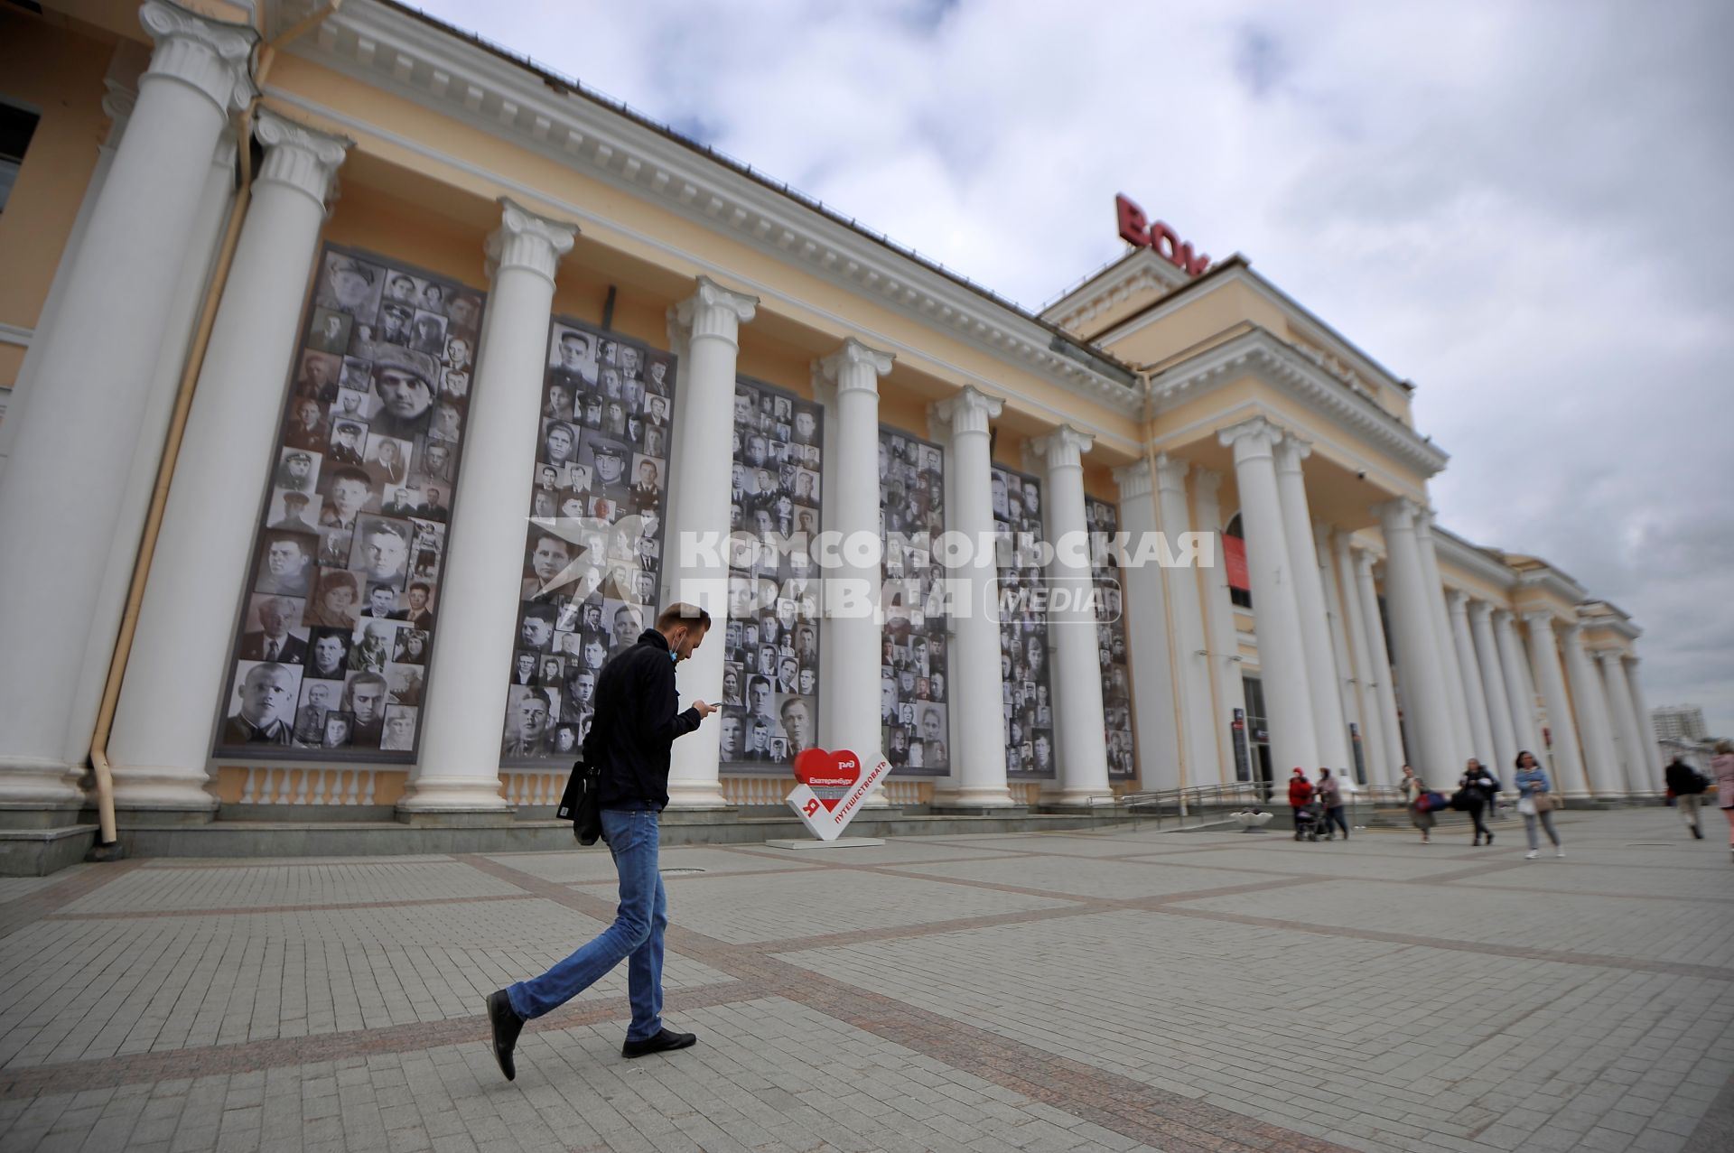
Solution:
{"label": "fourth portrait banner from left, right of the heart sign's column", "polygon": [[945,532],[945,453],[940,446],[879,428],[879,562],[884,610],[879,661],[879,728],[891,772],[950,772],[950,676],[945,570],[933,544]]}

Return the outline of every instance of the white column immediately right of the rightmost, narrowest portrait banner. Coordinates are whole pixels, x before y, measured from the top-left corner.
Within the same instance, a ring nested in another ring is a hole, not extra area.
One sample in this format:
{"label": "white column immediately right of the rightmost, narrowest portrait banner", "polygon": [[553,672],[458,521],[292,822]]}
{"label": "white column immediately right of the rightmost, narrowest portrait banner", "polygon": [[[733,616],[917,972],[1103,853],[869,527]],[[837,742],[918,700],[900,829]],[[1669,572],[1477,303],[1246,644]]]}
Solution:
{"label": "white column immediately right of the rightmost, narrowest portrait banner", "polygon": [[[1157,532],[1157,498],[1150,461],[1113,470],[1120,485],[1120,531],[1127,553]],[[1051,503],[1051,501],[1049,501]],[[1221,563],[1217,565],[1221,567]],[[1138,740],[1139,789],[1179,787],[1179,721],[1174,669],[1169,664],[1169,609],[1162,565],[1120,569],[1120,605],[1125,612],[1125,650],[1132,664],[1132,735]]]}

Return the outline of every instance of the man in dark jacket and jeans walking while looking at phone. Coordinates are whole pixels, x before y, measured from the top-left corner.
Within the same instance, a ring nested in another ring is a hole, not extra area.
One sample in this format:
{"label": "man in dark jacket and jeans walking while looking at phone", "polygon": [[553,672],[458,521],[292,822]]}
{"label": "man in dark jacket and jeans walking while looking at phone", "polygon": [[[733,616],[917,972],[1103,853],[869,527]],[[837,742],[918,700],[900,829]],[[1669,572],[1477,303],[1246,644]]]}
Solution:
{"label": "man in dark jacket and jeans walking while looking at phone", "polygon": [[579,995],[621,961],[633,1023],[623,1058],[642,1058],[697,1042],[662,1028],[662,931],[668,895],[657,872],[657,817],[668,804],[669,746],[699,726],[716,706],[694,700],[678,711],[675,666],[704,643],[711,616],[694,605],[662,610],[654,629],[612,657],[596,678],[596,711],[584,739],[584,761],[602,770],[602,837],[621,876],[614,924],[576,954],[531,981],[487,997],[494,1059],[506,1080],[517,1077],[512,1049],[524,1021]]}

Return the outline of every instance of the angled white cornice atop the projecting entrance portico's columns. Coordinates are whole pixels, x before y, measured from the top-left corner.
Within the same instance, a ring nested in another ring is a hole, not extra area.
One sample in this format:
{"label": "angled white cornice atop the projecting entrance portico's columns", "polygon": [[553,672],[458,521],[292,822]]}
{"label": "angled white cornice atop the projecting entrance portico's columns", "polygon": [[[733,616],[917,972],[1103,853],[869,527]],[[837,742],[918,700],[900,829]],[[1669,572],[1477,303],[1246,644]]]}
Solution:
{"label": "angled white cornice atop the projecting entrance portico's columns", "polygon": [[1444,449],[1415,435],[1413,428],[1262,328],[1207,349],[1153,376],[1150,383],[1155,390],[1157,413],[1209,395],[1242,376],[1257,376],[1280,388],[1422,477],[1441,472],[1450,459]]}

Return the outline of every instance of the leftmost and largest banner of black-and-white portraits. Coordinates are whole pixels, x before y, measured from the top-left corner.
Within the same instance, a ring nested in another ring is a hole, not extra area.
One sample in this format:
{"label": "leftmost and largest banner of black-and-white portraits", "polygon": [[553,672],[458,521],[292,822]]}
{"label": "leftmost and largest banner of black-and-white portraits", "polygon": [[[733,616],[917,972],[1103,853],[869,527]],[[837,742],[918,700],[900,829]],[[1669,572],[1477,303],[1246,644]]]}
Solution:
{"label": "leftmost and largest banner of black-and-white portraits", "polygon": [[321,251],[217,756],[414,761],[484,300]]}

